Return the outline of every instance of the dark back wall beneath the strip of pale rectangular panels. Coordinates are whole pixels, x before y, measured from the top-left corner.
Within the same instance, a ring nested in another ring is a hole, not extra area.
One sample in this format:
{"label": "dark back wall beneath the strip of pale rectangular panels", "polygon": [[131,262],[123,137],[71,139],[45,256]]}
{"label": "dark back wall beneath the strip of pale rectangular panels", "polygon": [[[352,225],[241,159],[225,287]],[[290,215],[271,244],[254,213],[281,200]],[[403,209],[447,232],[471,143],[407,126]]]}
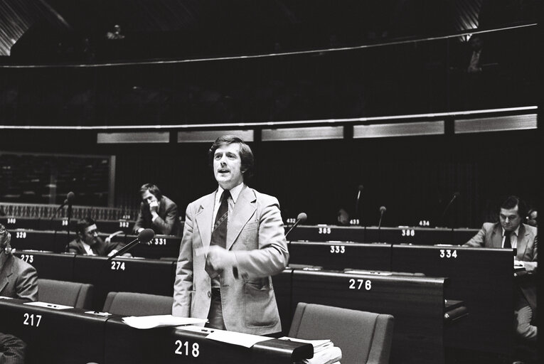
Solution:
{"label": "dark back wall beneath the strip of pale rectangular panels", "polygon": [[[208,166],[209,143],[96,144],[96,132],[0,132],[3,150],[116,156],[115,205],[135,207],[139,186],[156,183],[185,210],[215,188]],[[361,214],[377,225],[478,227],[496,218],[498,205],[517,194],[535,205],[538,181],[535,130],[452,136],[390,137],[336,141],[255,141],[250,186],[280,201],[284,218],[301,211],[309,223],[334,223],[336,212]],[[445,220],[442,211],[455,192]]]}

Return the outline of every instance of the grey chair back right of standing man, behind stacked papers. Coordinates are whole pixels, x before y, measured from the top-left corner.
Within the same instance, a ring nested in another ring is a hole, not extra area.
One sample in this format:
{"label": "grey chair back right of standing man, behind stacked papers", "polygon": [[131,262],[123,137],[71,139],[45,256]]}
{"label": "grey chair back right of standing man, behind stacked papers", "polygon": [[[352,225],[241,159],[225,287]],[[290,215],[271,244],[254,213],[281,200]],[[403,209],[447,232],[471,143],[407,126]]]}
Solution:
{"label": "grey chair back right of standing man, behind stacked papers", "polygon": [[342,364],[386,364],[393,340],[393,316],[299,302],[289,336],[331,339],[342,350]]}

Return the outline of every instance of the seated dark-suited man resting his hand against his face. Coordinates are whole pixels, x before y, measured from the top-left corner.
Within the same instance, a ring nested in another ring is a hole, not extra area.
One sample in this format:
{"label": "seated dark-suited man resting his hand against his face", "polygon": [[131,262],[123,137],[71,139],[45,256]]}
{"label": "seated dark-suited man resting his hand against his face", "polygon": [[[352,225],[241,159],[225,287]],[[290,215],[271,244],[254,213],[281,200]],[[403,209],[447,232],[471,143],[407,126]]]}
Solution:
{"label": "seated dark-suited man resting his hand against his face", "polygon": [[159,187],[146,183],[140,188],[142,203],[134,233],[144,229],[153,229],[155,234],[181,235],[178,205],[161,193]]}

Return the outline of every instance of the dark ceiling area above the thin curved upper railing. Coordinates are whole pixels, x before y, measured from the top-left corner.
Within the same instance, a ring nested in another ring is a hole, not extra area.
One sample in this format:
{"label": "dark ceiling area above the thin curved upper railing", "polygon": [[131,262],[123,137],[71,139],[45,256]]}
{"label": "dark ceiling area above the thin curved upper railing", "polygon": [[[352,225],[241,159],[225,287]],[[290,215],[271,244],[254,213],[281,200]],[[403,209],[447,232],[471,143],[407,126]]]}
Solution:
{"label": "dark ceiling area above the thin curved upper railing", "polygon": [[[0,63],[207,58],[385,43],[473,29],[482,8],[494,18],[510,16],[510,3],[516,1],[2,0]],[[115,25],[122,39],[107,39]]]}

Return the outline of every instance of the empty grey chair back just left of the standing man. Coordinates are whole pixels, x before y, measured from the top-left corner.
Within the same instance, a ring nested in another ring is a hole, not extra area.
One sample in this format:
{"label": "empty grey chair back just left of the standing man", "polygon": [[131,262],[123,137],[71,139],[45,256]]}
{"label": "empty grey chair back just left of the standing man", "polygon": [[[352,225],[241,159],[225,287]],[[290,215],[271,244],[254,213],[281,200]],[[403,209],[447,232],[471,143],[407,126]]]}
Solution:
{"label": "empty grey chair back just left of the standing man", "polygon": [[109,292],[104,303],[105,312],[123,316],[172,314],[174,298],[135,292]]}

